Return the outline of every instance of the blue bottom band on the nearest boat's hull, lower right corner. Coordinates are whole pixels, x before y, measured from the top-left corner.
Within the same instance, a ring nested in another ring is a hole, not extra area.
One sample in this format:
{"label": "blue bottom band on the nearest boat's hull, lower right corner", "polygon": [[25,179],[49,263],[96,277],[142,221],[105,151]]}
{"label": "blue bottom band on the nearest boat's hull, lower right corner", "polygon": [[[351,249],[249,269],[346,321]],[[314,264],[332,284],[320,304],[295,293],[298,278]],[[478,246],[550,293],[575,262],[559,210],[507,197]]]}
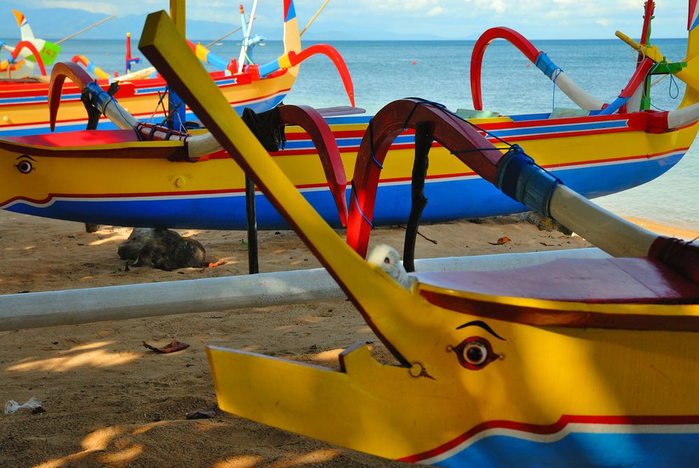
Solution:
{"label": "blue bottom band on the nearest boat's hull, lower right corner", "polygon": [[699,434],[573,433],[555,442],[494,435],[436,462],[446,468],[694,467]]}

